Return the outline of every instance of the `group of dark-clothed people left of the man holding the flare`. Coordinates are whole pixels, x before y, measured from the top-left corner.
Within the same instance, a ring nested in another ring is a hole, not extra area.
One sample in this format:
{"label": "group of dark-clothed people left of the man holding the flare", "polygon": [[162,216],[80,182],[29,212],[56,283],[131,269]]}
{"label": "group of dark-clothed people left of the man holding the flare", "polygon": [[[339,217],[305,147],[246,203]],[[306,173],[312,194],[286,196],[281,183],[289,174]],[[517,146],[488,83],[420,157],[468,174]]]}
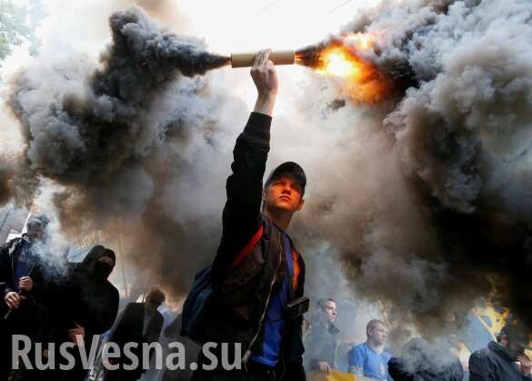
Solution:
{"label": "group of dark-clothed people left of the man holding the flare", "polygon": [[[147,293],[145,302],[127,304],[117,318],[119,294],[108,281],[116,261],[113,250],[94,246],[80,263],[65,259],[57,264],[55,258],[52,264],[43,260],[45,255],[39,248],[45,246],[47,223],[45,216],[31,217],[27,232],[0,248],[0,296],[4,300],[0,315],[2,381],[83,381],[90,369],[84,366],[79,347],[97,348],[101,343],[93,343],[95,337],[99,340],[107,332],[112,333],[110,339],[119,346],[156,342],[163,326],[157,307],[166,296],[158,288]],[[15,336],[25,336],[32,344],[45,346],[30,346],[29,363],[17,363],[13,353]],[[65,355],[51,353],[58,352],[64,343],[72,343],[68,350],[74,364],[68,369],[60,367]],[[57,359],[57,363],[52,359]],[[115,362],[120,365],[122,359]],[[53,365],[39,369],[39,363]],[[140,366],[130,370],[119,366],[117,371],[106,372],[105,379],[136,380],[142,373]]]}

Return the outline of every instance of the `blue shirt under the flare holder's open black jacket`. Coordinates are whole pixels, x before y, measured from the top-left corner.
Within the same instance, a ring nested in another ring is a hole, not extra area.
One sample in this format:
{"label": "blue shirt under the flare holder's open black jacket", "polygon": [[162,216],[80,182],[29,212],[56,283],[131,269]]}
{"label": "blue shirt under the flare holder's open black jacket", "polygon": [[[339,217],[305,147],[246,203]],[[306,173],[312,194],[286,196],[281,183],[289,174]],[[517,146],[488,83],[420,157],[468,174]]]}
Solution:
{"label": "blue shirt under the flare holder's open black jacket", "polygon": [[283,234],[283,246],[286,258],[286,276],[281,289],[270,299],[266,310],[265,339],[262,346],[262,356],[251,356],[250,360],[266,366],[276,366],[281,352],[281,339],[285,328],[285,306],[290,298],[290,283],[294,274],[292,262],[292,246],[290,239]]}

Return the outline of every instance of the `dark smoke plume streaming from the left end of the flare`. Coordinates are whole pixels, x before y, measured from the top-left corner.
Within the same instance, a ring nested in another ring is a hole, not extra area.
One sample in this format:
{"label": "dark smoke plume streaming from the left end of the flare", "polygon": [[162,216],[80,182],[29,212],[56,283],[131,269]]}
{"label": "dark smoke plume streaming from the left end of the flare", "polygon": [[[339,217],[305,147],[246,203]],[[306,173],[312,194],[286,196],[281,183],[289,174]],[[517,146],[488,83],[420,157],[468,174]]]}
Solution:
{"label": "dark smoke plume streaming from the left end of the flare", "polygon": [[69,61],[25,70],[11,85],[31,167],[61,183],[105,182],[152,154],[171,133],[169,125],[148,120],[157,96],[179,73],[225,64],[201,41],[165,32],[135,6],[112,15],[110,26],[113,43],[102,69]]}

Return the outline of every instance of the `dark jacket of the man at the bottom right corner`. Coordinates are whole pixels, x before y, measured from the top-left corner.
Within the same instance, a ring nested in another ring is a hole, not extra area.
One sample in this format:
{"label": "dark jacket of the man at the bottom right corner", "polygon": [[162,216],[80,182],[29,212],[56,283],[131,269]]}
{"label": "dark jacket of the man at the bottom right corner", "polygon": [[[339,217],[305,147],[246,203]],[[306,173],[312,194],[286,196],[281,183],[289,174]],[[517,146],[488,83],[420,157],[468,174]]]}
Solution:
{"label": "dark jacket of the man at the bottom right corner", "polygon": [[504,346],[491,341],[469,357],[469,381],[530,381],[514,361]]}

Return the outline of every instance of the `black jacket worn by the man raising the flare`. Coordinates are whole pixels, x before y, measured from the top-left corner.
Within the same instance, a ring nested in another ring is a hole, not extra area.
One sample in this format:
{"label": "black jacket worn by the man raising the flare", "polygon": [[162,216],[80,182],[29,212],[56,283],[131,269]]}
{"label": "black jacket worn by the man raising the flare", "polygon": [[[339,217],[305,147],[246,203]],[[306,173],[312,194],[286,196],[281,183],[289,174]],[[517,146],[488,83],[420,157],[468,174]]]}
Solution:
{"label": "black jacket worn by the man raising the flare", "polygon": [[[262,352],[264,317],[269,297],[282,285],[285,271],[282,234],[261,214],[263,177],[269,151],[271,117],[252,113],[244,132],[236,139],[232,175],[226,183],[223,232],[212,266],[216,289],[215,316],[207,324],[208,341],[242,343],[247,356]],[[264,233],[248,256],[230,269],[238,253],[260,228]],[[294,246],[292,246],[294,247]],[[296,254],[300,273],[290,298],[303,296],[305,264]],[[303,316],[286,324],[281,366],[290,380],[301,379]]]}

